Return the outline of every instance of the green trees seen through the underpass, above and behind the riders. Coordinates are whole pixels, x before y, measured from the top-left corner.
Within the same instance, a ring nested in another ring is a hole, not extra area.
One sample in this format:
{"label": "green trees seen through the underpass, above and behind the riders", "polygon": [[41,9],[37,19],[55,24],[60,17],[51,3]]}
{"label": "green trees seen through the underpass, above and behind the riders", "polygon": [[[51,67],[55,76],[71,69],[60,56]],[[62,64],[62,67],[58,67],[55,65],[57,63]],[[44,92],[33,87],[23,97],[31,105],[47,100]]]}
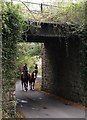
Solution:
{"label": "green trees seen through the underpass, above and behind the riders", "polygon": [[20,77],[21,68],[24,63],[27,63],[29,72],[32,72],[36,63],[41,57],[40,43],[25,43],[17,44],[17,77]]}

